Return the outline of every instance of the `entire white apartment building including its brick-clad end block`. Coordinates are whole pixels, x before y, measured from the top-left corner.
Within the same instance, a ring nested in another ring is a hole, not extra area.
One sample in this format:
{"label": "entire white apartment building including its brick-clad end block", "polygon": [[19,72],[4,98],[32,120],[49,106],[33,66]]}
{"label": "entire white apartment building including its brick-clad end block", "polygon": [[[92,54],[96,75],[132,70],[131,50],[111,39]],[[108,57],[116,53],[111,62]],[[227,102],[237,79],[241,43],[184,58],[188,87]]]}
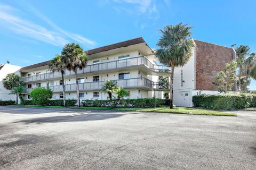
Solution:
{"label": "entire white apartment building including its brick-clad end block", "polygon": [[[212,81],[216,80],[216,74],[226,63],[236,60],[233,48],[199,40],[194,42],[196,46],[190,61],[183,67],[175,67],[174,70],[173,103],[176,106],[193,107],[193,96],[218,94],[218,89]],[[169,84],[159,84],[158,77],[169,77],[170,82],[171,69],[157,64],[159,62],[153,50],[141,37],[87,50],[86,54],[88,64],[78,70],[81,101],[107,99],[107,94],[100,91],[105,80],[115,80],[118,86],[129,90],[128,98],[154,97],[154,86],[157,98],[163,98],[164,92],[170,92]],[[61,74],[51,72],[48,64],[49,61],[46,61],[20,69],[22,80],[26,83],[25,98],[29,99],[29,92],[36,87],[47,87],[49,84],[54,92],[53,99],[61,99],[62,83],[65,83],[66,98],[77,99],[74,72],[66,71],[65,82],[62,82]]]}

